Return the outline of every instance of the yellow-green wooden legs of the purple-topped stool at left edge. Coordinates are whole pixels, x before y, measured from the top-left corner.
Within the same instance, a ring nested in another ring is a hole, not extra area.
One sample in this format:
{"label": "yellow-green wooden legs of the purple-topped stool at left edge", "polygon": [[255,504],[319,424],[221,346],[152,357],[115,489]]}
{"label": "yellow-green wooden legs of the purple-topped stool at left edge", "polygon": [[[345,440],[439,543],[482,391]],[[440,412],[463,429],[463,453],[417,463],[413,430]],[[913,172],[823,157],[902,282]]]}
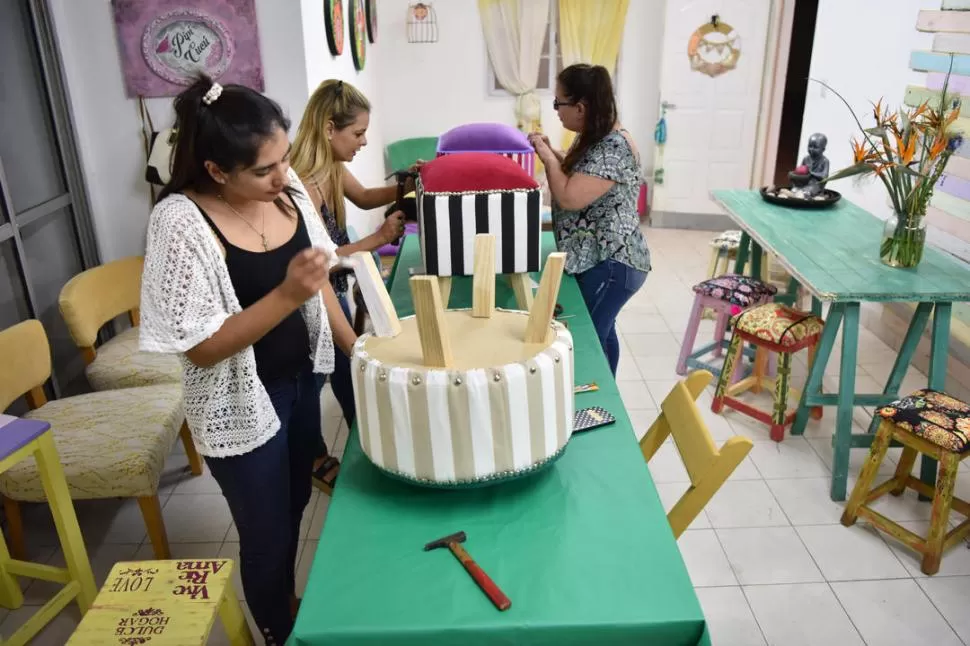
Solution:
{"label": "yellow-green wooden legs of the purple-topped stool at left edge", "polygon": [[[2,432],[3,430],[0,429],[0,433]],[[72,600],[77,601],[83,615],[91,607],[97,592],[94,575],[91,573],[91,563],[88,561],[87,550],[84,547],[84,538],[78,527],[74,504],[71,502],[71,494],[67,488],[64,470],[58,460],[50,429],[0,460],[0,473],[30,457],[37,461],[37,469],[44,485],[51,515],[54,517],[54,526],[57,528],[57,536],[60,539],[67,567],[59,568],[13,559],[7,551],[3,535],[0,534],[0,606],[13,610],[23,605],[24,595],[16,579],[18,576],[64,584],[57,594],[41,606],[40,610],[10,637],[6,640],[0,638],[0,644],[4,646],[23,646],[29,643]]]}

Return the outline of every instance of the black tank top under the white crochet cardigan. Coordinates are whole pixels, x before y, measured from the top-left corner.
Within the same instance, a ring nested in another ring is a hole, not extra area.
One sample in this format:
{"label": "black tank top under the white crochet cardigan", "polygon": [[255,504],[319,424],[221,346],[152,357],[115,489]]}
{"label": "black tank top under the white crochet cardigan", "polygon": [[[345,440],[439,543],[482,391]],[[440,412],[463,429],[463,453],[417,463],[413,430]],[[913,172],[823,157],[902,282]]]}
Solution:
{"label": "black tank top under the white crochet cardigan", "polygon": [[[243,309],[282,283],[293,256],[310,246],[310,234],[299,212],[296,214],[296,232],[292,238],[276,249],[256,252],[240,249],[226,240],[205,210],[198,204],[196,206],[226,249],[229,278]],[[300,310],[294,310],[254,343],[253,353],[256,355],[256,373],[263,384],[292,377],[311,366],[310,334]]]}

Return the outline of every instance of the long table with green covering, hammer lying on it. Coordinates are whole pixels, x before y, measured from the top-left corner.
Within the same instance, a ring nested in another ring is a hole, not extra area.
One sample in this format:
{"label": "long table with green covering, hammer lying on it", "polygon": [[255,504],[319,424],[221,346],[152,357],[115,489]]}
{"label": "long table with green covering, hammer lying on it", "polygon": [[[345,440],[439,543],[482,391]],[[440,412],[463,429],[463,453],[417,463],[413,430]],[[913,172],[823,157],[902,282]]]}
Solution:
{"label": "long table with green covering, hammer lying on it", "polygon": [[[552,238],[544,234],[544,252]],[[409,271],[418,240],[401,247],[389,291],[413,313]],[[451,306],[471,305],[455,279]],[[514,296],[499,280],[496,301]],[[630,420],[576,282],[559,302],[573,333],[576,379],[600,391],[613,426],[575,436],[531,477],[480,489],[415,487],[380,473],[356,429],[344,453],[290,644],[340,646],[597,646],[709,644],[707,627]],[[512,600],[498,612],[447,550],[428,541],[464,530],[466,547]]]}

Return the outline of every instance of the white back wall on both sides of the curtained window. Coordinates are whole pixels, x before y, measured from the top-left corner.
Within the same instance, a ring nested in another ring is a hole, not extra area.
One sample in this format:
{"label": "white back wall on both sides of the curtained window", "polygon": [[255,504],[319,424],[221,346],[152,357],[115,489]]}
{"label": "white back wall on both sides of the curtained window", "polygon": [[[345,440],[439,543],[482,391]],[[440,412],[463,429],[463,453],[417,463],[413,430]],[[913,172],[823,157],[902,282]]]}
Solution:
{"label": "white back wall on both sides of the curtained window", "polygon": [[[475,121],[515,125],[515,99],[488,92],[488,52],[477,1],[434,3],[438,42],[421,44],[407,42],[408,3],[380,2],[381,39],[391,52],[383,57],[380,70],[380,118],[386,141],[440,135]],[[648,170],[653,164],[665,4],[665,0],[630,2],[620,52],[620,118],[639,144]],[[541,95],[542,126],[558,141],[562,126],[552,99],[551,92]]]}

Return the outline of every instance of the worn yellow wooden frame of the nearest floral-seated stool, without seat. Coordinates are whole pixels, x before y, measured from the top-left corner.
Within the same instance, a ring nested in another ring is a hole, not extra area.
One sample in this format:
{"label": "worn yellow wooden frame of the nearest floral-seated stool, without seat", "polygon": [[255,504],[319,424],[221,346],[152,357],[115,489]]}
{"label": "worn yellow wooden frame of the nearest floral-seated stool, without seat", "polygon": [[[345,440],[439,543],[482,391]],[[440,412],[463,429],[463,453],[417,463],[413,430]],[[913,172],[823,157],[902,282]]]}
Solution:
{"label": "worn yellow wooden frame of the nearest floral-seated stool, without seat", "polygon": [[[899,464],[896,465],[896,472],[886,482],[870,489],[879,471],[879,466],[886,457],[889,444],[893,440],[903,445],[903,453],[899,459]],[[940,470],[935,489],[912,475],[913,464],[916,462],[916,456],[919,453],[936,458],[939,461]],[[924,574],[936,574],[940,571],[943,552],[963,542],[970,535],[970,503],[953,495],[960,462],[968,456],[970,456],[970,451],[954,453],[900,428],[891,420],[883,420],[879,424],[879,430],[876,431],[876,437],[869,448],[869,457],[862,467],[859,480],[856,482],[849,502],[845,506],[842,524],[851,527],[861,516],[876,529],[886,532],[907,547],[922,554],[920,569]],[[887,493],[899,496],[907,488],[933,499],[930,528],[925,538],[898,525],[870,506]],[[955,509],[966,516],[967,519],[947,532],[951,509]]]}

